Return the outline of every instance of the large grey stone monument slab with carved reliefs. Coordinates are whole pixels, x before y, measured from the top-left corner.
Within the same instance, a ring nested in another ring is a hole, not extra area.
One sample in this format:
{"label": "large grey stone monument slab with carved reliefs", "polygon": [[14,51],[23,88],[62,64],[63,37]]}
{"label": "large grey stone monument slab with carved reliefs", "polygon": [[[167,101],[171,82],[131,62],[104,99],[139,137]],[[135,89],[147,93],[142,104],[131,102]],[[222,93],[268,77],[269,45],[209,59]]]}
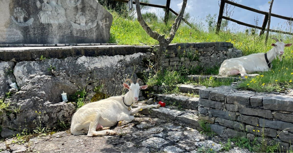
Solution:
{"label": "large grey stone monument slab with carved reliefs", "polygon": [[106,43],[112,15],[96,0],[0,0],[0,44]]}

